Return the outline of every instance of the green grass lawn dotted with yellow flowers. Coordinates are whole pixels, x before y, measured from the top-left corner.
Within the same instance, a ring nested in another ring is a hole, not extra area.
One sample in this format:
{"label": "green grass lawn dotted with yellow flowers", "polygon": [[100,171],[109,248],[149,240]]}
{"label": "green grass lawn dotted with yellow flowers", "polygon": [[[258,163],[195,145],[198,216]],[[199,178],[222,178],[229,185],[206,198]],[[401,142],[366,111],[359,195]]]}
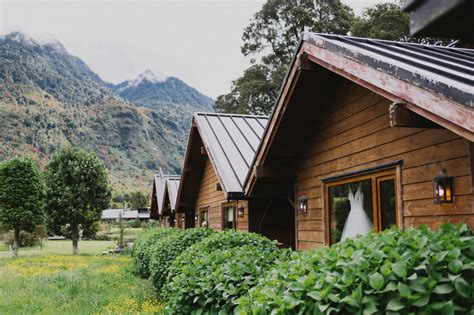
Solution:
{"label": "green grass lawn dotted with yellow flowers", "polygon": [[[51,241],[44,252],[70,245]],[[84,241],[79,250],[100,252],[104,245]],[[153,314],[160,309],[148,281],[133,274],[128,256],[0,259],[0,314]]]}

